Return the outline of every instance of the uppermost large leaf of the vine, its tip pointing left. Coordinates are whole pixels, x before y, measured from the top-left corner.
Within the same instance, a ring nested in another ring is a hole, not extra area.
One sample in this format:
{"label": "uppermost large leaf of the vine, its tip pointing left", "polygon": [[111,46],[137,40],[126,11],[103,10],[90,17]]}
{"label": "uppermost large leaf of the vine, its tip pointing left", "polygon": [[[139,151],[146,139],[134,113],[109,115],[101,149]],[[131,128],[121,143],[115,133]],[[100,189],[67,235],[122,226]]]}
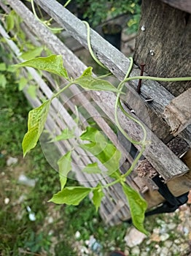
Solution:
{"label": "uppermost large leaf of the vine, its tip pointing left", "polygon": [[61,55],[51,55],[48,57],[38,57],[16,64],[15,67],[34,67],[35,69],[45,70],[55,75],[69,78],[66,69],[63,67],[63,57]]}

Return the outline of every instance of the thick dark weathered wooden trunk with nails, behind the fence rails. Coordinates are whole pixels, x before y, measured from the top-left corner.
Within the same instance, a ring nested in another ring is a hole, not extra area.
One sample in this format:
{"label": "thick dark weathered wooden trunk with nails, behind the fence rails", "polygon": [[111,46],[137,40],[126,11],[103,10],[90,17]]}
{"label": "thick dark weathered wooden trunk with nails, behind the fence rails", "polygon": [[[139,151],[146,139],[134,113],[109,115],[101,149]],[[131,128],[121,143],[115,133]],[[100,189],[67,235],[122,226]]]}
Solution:
{"label": "thick dark weathered wooden trunk with nails, behind the fence rails", "polygon": [[[145,64],[144,71],[148,75],[163,78],[190,76],[190,42],[190,13],[163,1],[142,1],[134,61],[139,66]],[[191,87],[190,81],[162,84],[174,96]]]}

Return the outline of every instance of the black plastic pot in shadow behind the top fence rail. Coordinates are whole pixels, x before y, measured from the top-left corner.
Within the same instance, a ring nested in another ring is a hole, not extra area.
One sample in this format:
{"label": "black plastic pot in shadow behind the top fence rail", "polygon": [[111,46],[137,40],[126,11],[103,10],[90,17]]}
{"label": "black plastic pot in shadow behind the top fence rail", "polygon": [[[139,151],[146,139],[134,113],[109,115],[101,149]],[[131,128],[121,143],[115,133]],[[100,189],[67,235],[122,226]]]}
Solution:
{"label": "black plastic pot in shadow behind the top fence rail", "polygon": [[122,26],[118,24],[106,24],[102,27],[102,31],[104,38],[120,50]]}

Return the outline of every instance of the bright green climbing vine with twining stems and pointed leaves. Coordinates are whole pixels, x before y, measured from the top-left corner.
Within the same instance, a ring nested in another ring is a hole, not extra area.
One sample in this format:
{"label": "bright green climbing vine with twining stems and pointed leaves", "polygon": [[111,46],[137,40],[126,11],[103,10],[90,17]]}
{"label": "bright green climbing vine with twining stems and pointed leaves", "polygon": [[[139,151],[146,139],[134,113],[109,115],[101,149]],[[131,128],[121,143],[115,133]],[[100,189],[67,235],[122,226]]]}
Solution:
{"label": "bright green climbing vine with twining stems and pointed leaves", "polygon": [[[100,61],[94,56],[93,50],[90,45],[90,27],[88,23],[85,23],[87,26],[87,43],[90,50],[91,55],[93,56],[93,59],[98,62],[98,64],[101,64]],[[55,94],[52,94],[52,97],[50,99],[47,99],[43,102],[42,105],[40,105],[38,108],[34,108],[28,113],[28,131],[26,132],[26,135],[23,138],[23,155],[24,157],[30,151],[32,148],[36,146],[36,143],[39,140],[40,135],[42,134],[42,131],[44,129],[44,124],[47,120],[47,115],[49,113],[50,104],[52,102],[52,99],[55,99],[58,97],[61,93],[66,91],[66,89],[69,88],[69,86],[75,84],[82,89],[85,89],[87,91],[93,90],[93,91],[112,91],[114,94],[116,94],[115,99],[115,107],[114,107],[114,118],[115,118],[115,124],[117,128],[122,132],[122,134],[127,138],[130,143],[137,144],[141,146],[141,150],[139,151],[139,154],[137,157],[133,160],[132,165],[130,168],[126,171],[126,173],[122,174],[120,173],[120,159],[121,159],[121,153],[120,151],[110,142],[107,140],[107,138],[98,130],[95,129],[95,127],[86,127],[85,131],[82,132],[82,134],[79,136],[79,139],[84,143],[80,143],[79,146],[84,149],[87,152],[90,152],[93,154],[93,156],[98,159],[98,162],[101,162],[102,165],[106,168],[106,174],[107,176],[110,176],[112,178],[112,182],[106,185],[102,185],[100,182],[98,182],[96,187],[67,187],[66,181],[67,177],[69,175],[69,172],[71,172],[71,161],[72,161],[72,153],[75,150],[75,148],[71,148],[70,151],[68,151],[66,154],[64,154],[59,160],[58,160],[58,169],[59,169],[59,177],[61,182],[61,190],[52,196],[52,198],[49,200],[49,202],[58,203],[58,204],[68,204],[68,205],[74,205],[77,206],[79,203],[87,197],[87,195],[90,194],[90,192],[93,194],[93,204],[95,205],[96,210],[98,211],[98,208],[101,206],[101,200],[104,197],[104,192],[109,187],[112,187],[114,184],[120,183],[122,186],[122,191],[125,194],[125,197],[128,200],[128,205],[130,208],[130,214],[132,218],[133,225],[140,230],[142,233],[149,234],[147,230],[144,228],[144,216],[145,211],[147,210],[147,202],[144,200],[143,197],[131,188],[126,183],[126,177],[130,175],[130,173],[133,171],[136,164],[139,162],[139,159],[141,155],[144,153],[144,150],[147,146],[147,132],[144,128],[144,124],[141,123],[137,118],[131,116],[129,113],[127,113],[123,108],[120,101],[120,95],[123,94],[122,89],[126,82],[129,80],[138,80],[138,79],[147,79],[147,80],[157,80],[157,81],[182,81],[182,80],[191,80],[191,78],[155,78],[155,77],[149,77],[149,76],[135,76],[135,77],[129,77],[130,71],[133,67],[133,59],[130,58],[130,66],[128,68],[128,72],[125,75],[124,80],[122,80],[119,85],[114,87],[112,83],[109,83],[109,81],[96,78],[93,75],[92,67],[87,67],[85,71],[80,75],[78,78],[70,78],[69,74],[65,67],[63,67],[63,56],[61,55],[50,55],[47,57],[38,57],[34,59],[30,59],[28,61],[24,61],[23,63],[16,64],[16,67],[33,67],[35,69],[44,70],[47,72],[51,72],[52,74],[59,75],[63,78],[65,78],[68,83],[65,87],[62,89],[59,89]],[[103,66],[103,64],[101,64]],[[143,132],[143,138],[140,141],[133,140],[128,136],[128,134],[125,132],[125,130],[120,125],[120,121],[118,118],[119,111],[122,111],[122,113],[127,116],[127,118],[130,118],[136,124],[139,124],[139,126],[142,129]],[[69,130],[68,128],[64,129],[61,135],[58,135],[56,138],[54,138],[52,141],[57,140],[69,140],[70,138],[74,138],[74,131]],[[88,143],[87,143],[88,141]],[[99,173],[103,174],[103,171],[98,167],[97,162],[93,162],[88,164],[82,171],[86,173]]]}

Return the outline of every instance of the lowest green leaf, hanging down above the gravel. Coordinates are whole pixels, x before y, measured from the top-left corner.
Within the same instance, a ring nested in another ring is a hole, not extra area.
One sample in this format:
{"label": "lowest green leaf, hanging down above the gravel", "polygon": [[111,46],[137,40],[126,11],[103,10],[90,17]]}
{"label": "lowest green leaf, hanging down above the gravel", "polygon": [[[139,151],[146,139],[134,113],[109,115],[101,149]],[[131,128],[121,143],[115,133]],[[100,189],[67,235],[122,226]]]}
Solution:
{"label": "lowest green leaf, hanging down above the gravel", "polygon": [[122,184],[122,190],[127,197],[130,214],[133,221],[133,225],[142,233],[148,235],[147,230],[144,229],[144,214],[147,210],[147,202],[143,197],[136,192],[136,190],[129,187],[127,184]]}

